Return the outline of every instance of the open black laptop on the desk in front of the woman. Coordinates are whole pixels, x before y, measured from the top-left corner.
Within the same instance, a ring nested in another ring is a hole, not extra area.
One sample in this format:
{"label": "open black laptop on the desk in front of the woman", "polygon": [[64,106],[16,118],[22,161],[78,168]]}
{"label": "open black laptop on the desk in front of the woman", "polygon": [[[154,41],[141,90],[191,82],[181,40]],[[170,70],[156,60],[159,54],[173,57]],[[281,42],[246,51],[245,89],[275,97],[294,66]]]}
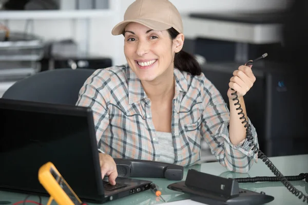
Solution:
{"label": "open black laptop on the desk in front of the woman", "polygon": [[149,189],[152,181],[102,179],[92,110],[0,98],[0,189],[48,196],[38,169],[50,161],[85,202],[104,203]]}

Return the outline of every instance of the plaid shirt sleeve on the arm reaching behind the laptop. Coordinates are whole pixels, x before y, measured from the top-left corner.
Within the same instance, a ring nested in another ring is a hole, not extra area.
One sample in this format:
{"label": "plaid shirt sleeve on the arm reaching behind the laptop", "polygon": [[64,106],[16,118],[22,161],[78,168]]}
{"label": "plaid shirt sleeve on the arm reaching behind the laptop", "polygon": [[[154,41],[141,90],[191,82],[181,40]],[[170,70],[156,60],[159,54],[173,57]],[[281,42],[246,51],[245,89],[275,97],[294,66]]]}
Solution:
{"label": "plaid shirt sleeve on the arm reaching behind the laptop", "polygon": [[100,149],[100,140],[104,131],[109,125],[109,111],[105,98],[101,90],[104,89],[104,79],[100,75],[102,70],[94,71],[94,73],[85,81],[83,87],[80,89],[79,98],[76,106],[89,107],[92,109],[94,127],[96,131],[96,138],[98,149]]}

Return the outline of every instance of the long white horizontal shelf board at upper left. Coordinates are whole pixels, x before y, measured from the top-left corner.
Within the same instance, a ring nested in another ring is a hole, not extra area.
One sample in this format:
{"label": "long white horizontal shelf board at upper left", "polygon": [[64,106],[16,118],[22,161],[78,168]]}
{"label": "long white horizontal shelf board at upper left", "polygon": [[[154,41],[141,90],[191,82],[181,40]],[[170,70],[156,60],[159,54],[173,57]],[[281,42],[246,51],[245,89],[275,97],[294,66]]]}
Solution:
{"label": "long white horizontal shelf board at upper left", "polygon": [[98,10],[40,10],[40,11],[0,11],[0,19],[62,19],[111,17],[111,9]]}

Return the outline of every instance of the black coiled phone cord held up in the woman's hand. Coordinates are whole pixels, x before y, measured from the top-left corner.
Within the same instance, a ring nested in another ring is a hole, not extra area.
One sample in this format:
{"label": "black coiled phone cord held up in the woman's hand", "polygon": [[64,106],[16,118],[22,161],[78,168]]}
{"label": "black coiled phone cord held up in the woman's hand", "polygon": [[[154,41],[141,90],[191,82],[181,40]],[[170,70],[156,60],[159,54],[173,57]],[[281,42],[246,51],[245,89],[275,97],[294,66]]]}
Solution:
{"label": "black coiled phone cord held up in the woman's hand", "polygon": [[[267,53],[264,53],[262,56],[254,59],[254,60],[249,60],[246,65],[247,66],[251,66],[253,65],[253,63],[259,59],[262,59],[264,57],[267,56]],[[232,89],[234,90],[234,89]],[[252,128],[248,123],[248,120],[245,117],[245,114],[243,113],[243,109],[241,108],[241,104],[239,103],[239,99],[238,99],[238,95],[237,92],[235,91],[234,93],[232,93],[231,95],[234,95],[235,97],[233,98],[234,101],[237,101],[234,105],[238,106],[238,108],[236,108],[236,110],[240,110],[240,112],[238,113],[238,115],[242,115],[240,117],[240,119],[244,119],[242,121],[242,124],[245,124],[244,127],[246,128],[246,138],[247,141],[250,142],[249,147],[252,147],[252,150],[254,151],[255,154],[258,153],[258,158],[261,159],[263,162],[265,162],[265,165],[267,165],[267,167],[272,170],[272,172],[276,175],[275,178],[268,178],[268,179],[276,179],[281,181],[283,183],[283,185],[295,196],[298,196],[299,199],[303,198],[303,202],[307,202],[308,203],[308,196],[305,196],[301,191],[297,190],[290,181],[288,181],[288,179],[283,176],[281,174],[281,172],[273,165],[272,161],[269,160],[266,155],[257,148],[257,146],[254,144],[254,137],[252,134]],[[299,176],[303,176],[299,175]],[[306,174],[305,174],[306,175]],[[291,176],[292,177],[292,176]],[[290,178],[290,177],[288,177]],[[260,178],[259,178],[260,179]],[[261,177],[261,179],[265,179],[264,177]],[[252,179],[251,177],[248,178],[238,178],[237,180],[241,181],[241,182],[254,182],[254,179]],[[306,178],[307,180],[307,178]]]}

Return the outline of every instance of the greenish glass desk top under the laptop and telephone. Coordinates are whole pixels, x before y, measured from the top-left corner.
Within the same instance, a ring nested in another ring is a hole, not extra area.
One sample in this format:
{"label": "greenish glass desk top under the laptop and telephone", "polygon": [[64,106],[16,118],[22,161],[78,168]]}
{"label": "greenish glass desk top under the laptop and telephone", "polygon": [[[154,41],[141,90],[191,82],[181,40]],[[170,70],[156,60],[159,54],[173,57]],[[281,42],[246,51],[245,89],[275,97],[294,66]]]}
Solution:
{"label": "greenish glass desk top under the laptop and telephone", "polygon": [[[282,156],[282,157],[269,157],[274,165],[278,168],[278,170],[284,175],[298,175],[300,173],[308,173],[308,154],[307,155],[294,155],[294,156]],[[271,170],[265,165],[263,161],[260,159],[258,163],[255,163],[252,169],[246,174],[233,173],[226,171],[218,162],[210,162],[203,163],[202,165],[191,166],[189,168],[185,168],[183,180],[186,178],[187,170],[195,169],[201,172],[205,172],[208,174],[219,175],[222,177],[229,178],[238,178],[238,177],[255,177],[255,176],[274,176]],[[167,189],[167,186],[170,183],[174,183],[176,181],[170,181],[167,179],[157,179],[157,178],[146,178],[147,180],[151,180],[156,185],[160,187],[162,192],[162,197],[166,200],[166,202],[178,201],[183,199],[188,199],[189,195],[183,194],[181,192],[176,192]],[[292,181],[291,182],[298,190],[304,193],[304,195],[308,195],[308,182],[302,181]],[[256,191],[256,192],[265,192],[268,195],[272,195],[275,197],[274,201],[267,204],[307,204],[299,199],[297,196],[288,191],[281,182],[257,182],[257,183],[240,183],[240,188]],[[12,192],[4,192],[0,191],[0,201],[8,201],[11,203],[7,203],[12,205],[17,201],[22,201],[25,199],[27,194],[19,194]],[[28,200],[34,200],[38,202],[37,196],[31,196]],[[48,197],[42,197],[42,203],[44,205],[47,204]],[[156,197],[151,191],[145,191],[138,194],[134,194],[131,196],[127,196],[121,199],[117,199],[114,201],[110,201],[104,204],[115,205],[115,204],[159,204],[163,203],[163,201]],[[5,204],[1,203],[0,204]],[[21,203],[22,204],[22,203]],[[26,203],[30,204],[30,203]],[[56,205],[53,201],[51,204]],[[88,203],[95,204],[95,203]]]}

